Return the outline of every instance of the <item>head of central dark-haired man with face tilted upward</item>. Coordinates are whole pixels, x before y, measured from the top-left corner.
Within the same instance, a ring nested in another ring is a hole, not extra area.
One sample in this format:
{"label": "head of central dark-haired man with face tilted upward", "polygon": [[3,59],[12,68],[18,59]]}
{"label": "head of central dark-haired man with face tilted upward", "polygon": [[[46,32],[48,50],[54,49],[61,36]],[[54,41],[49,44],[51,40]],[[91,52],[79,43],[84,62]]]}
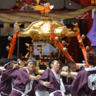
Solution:
{"label": "head of central dark-haired man with face tilted upward", "polygon": [[49,61],[49,68],[55,70],[56,72],[60,69],[60,64],[56,59],[51,59]]}

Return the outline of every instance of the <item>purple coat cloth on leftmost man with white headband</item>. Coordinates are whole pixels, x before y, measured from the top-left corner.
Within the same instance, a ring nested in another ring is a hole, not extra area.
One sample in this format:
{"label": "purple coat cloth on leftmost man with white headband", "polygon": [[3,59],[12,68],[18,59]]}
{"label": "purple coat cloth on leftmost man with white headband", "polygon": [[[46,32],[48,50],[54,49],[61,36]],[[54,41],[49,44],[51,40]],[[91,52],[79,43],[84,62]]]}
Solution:
{"label": "purple coat cloth on leftmost man with white headband", "polygon": [[6,93],[6,94],[10,94],[11,92],[11,82],[12,79],[16,79],[17,74],[18,74],[19,70],[17,69],[10,69],[10,70],[5,70],[2,71],[1,75],[1,82],[0,82],[0,91]]}

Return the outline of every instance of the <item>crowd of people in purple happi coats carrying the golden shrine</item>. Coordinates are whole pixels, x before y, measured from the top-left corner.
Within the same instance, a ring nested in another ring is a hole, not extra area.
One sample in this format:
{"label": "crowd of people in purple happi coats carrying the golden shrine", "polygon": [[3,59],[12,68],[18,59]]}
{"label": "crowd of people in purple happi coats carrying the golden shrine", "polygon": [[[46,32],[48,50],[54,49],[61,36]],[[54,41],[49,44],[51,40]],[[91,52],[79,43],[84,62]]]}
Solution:
{"label": "crowd of people in purple happi coats carrying the golden shrine", "polygon": [[[31,57],[23,68],[17,58],[0,60],[0,96],[96,96],[96,51],[87,53],[89,67],[76,69],[68,61],[60,68],[58,60],[51,59],[42,75],[34,73],[36,59]],[[59,72],[78,72],[76,77],[60,76]]]}

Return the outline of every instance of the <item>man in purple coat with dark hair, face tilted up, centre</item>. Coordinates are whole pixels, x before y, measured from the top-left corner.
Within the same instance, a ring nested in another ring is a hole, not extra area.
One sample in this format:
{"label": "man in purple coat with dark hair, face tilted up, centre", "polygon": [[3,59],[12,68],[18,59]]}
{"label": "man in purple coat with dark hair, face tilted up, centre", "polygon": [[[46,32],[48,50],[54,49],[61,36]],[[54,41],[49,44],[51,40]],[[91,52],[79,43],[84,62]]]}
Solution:
{"label": "man in purple coat with dark hair, face tilted up, centre", "polygon": [[60,64],[56,59],[49,61],[49,69],[46,69],[39,80],[43,89],[36,90],[36,96],[65,96],[65,87],[59,74]]}

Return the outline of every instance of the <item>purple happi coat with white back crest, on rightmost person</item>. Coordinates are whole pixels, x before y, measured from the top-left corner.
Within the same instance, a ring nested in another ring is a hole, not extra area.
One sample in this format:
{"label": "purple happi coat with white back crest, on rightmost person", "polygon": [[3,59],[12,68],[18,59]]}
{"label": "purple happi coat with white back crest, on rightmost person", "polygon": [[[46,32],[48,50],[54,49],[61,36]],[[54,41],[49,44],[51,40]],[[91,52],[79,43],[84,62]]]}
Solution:
{"label": "purple happi coat with white back crest, on rightmost person", "polygon": [[96,96],[96,67],[80,71],[70,91],[72,96]]}

